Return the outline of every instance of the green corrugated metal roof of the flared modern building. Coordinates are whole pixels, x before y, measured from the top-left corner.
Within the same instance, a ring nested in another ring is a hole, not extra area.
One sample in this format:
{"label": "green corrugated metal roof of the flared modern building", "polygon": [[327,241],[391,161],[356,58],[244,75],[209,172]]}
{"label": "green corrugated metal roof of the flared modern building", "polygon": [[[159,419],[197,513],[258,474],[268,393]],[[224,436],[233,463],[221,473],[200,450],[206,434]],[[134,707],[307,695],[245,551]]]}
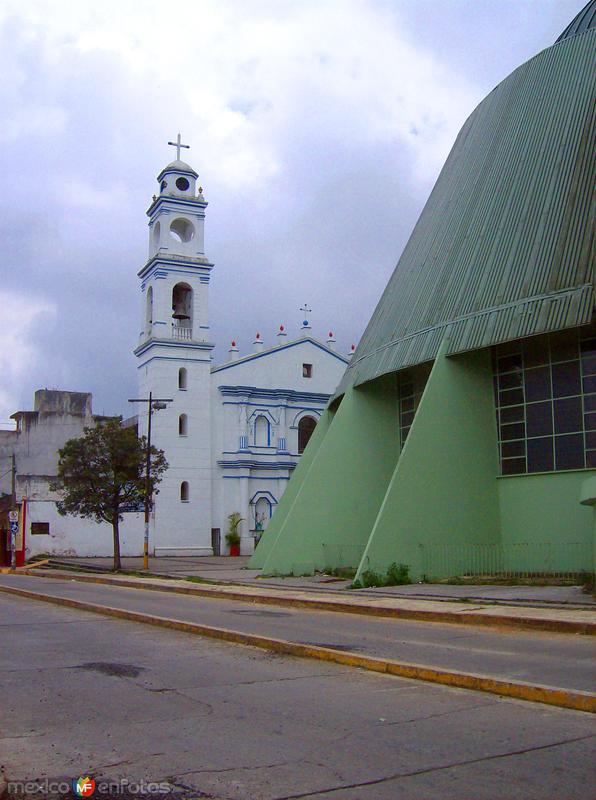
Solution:
{"label": "green corrugated metal roof of the flared modern building", "polygon": [[516,69],[460,131],[337,394],[589,322],[596,29]]}

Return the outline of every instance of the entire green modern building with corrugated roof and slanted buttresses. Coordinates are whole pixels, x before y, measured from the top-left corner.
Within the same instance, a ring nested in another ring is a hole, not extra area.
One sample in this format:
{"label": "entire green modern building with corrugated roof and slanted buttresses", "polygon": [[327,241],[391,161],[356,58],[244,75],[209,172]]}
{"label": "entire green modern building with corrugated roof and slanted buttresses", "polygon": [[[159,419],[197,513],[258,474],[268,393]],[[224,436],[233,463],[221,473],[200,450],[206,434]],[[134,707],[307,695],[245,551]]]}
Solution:
{"label": "entire green modern building with corrugated roof and slanted buttresses", "polygon": [[595,26],[466,121],[251,567],[594,570]]}

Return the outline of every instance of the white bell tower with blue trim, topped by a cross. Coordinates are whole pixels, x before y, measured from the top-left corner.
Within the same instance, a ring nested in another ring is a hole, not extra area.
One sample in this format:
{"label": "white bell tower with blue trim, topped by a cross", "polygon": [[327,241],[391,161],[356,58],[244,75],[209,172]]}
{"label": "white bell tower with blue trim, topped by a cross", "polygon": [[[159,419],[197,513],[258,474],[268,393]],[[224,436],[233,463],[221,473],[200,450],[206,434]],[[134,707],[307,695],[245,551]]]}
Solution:
{"label": "white bell tower with blue trim, topped by a cross", "polygon": [[[139,397],[171,397],[152,415],[151,442],[169,463],[155,498],[149,552],[205,555],[211,550],[211,412],[208,291],[213,264],[205,256],[207,202],[198,174],[177,158],[157,176],[149,217],[149,258],[141,279],[142,323],[134,354]],[[139,434],[147,408],[139,404]]]}

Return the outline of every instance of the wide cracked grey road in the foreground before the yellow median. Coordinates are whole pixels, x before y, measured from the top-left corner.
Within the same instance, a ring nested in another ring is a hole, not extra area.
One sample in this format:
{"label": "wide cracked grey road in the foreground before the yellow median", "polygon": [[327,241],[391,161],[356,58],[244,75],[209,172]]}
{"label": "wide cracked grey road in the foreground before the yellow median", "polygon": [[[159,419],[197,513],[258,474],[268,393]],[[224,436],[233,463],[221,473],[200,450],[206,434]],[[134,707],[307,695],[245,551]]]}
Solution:
{"label": "wide cracked grey road in the foreground before the yellow median", "polygon": [[[139,594],[121,591],[131,601]],[[171,610],[173,598],[150,599]],[[581,712],[7,594],[0,612],[0,763],[10,781],[91,773],[226,800],[586,800],[593,793],[594,720]],[[339,617],[325,640],[340,635]]]}

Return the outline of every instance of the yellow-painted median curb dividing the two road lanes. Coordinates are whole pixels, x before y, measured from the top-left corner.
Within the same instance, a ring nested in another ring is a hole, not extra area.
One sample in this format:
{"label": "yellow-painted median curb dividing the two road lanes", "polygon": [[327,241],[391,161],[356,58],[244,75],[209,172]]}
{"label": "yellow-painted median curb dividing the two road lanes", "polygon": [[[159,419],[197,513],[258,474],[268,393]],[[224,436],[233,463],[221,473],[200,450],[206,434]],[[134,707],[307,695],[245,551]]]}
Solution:
{"label": "yellow-painted median curb dividing the two road lanes", "polygon": [[480,692],[489,692],[502,697],[511,697],[516,700],[528,700],[533,703],[546,703],[560,708],[569,708],[574,711],[596,712],[596,695],[589,692],[571,691],[553,686],[534,685],[522,681],[507,681],[500,678],[491,678],[488,675],[475,675],[470,672],[455,672],[437,667],[427,667],[421,664],[410,664],[395,661],[389,658],[375,658],[359,653],[344,652],[317,645],[300,644],[285,639],[275,639],[268,636],[259,636],[253,633],[242,633],[227,628],[216,628],[211,625],[200,625],[196,622],[170,619],[168,617],[155,617],[140,611],[126,611],[113,606],[102,606],[82,600],[73,600],[69,597],[43,595],[39,592],[30,592],[27,589],[18,589],[12,586],[0,586],[0,592],[27,597],[32,600],[41,600],[56,605],[68,606],[81,611],[90,611],[95,614],[117,617],[131,622],[142,622],[160,628],[183,631],[199,636],[208,636],[212,639],[233,642],[235,644],[251,645],[263,650],[271,650],[284,655],[314,658],[319,661],[342,664],[348,667],[380,672],[387,675],[396,675],[402,678],[411,678],[419,681],[440,683],[458,689],[472,689]]}

